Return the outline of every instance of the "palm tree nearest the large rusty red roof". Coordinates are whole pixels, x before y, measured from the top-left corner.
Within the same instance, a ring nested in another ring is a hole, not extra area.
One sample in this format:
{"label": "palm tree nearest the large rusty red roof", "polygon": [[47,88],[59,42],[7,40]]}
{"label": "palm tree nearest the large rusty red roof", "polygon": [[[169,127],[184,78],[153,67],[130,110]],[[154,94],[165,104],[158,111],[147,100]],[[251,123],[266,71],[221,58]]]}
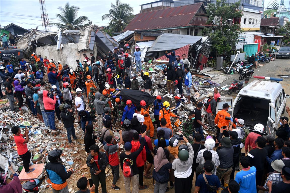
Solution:
{"label": "palm tree nearest the large rusty red roof", "polygon": [[102,16],[102,20],[110,20],[108,28],[110,32],[121,32],[134,18],[133,8],[127,3],[121,3],[116,0],[116,5],[111,3],[111,9],[109,13]]}

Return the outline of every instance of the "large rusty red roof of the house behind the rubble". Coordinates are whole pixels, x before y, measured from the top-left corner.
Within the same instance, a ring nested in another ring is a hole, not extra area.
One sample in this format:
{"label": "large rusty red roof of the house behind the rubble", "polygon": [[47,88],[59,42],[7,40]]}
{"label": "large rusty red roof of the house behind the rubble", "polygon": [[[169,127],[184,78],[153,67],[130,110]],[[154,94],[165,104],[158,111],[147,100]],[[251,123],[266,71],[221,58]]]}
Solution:
{"label": "large rusty red roof of the house behind the rubble", "polygon": [[204,26],[208,19],[205,13],[206,10],[202,3],[139,13],[123,31],[155,30],[191,25]]}

